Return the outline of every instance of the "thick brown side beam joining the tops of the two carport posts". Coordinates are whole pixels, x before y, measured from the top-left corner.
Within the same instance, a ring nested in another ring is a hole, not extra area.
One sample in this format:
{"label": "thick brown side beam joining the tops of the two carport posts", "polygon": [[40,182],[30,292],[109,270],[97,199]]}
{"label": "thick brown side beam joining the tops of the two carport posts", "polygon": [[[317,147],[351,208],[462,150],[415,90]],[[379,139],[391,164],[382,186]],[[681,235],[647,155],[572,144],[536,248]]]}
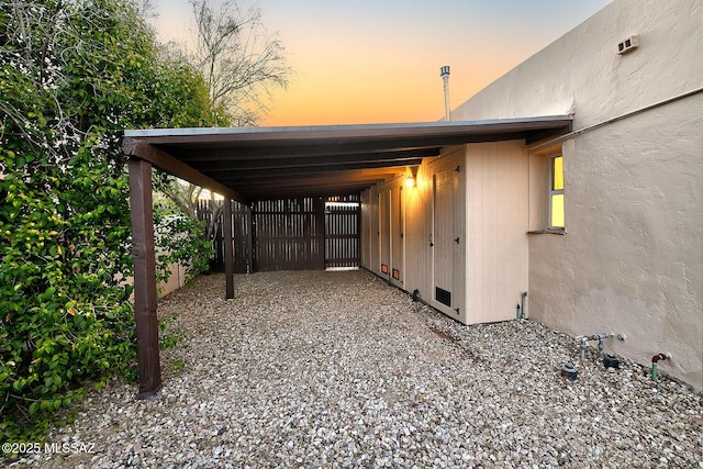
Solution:
{"label": "thick brown side beam joining the tops of the two carport posts", "polygon": [[185,163],[179,161],[168,153],[153,145],[149,145],[143,139],[131,137],[124,138],[124,141],[122,142],[122,150],[125,155],[149,161],[152,165],[156,166],[159,169],[163,169],[169,175],[174,175],[197,186],[210,189],[211,191],[217,192],[225,198],[236,200],[241,203],[247,203],[247,200],[239,193],[215,181],[209,176],[205,176],[202,172],[191,168]]}

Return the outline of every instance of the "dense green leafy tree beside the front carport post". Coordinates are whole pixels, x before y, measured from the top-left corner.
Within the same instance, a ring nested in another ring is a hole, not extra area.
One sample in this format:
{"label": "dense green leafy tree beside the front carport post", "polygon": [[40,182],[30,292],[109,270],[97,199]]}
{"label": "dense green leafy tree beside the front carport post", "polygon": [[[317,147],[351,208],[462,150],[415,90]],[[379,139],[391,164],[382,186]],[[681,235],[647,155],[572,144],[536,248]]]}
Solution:
{"label": "dense green leafy tree beside the front carport post", "polygon": [[135,372],[123,129],[216,125],[125,0],[0,0],[0,440]]}

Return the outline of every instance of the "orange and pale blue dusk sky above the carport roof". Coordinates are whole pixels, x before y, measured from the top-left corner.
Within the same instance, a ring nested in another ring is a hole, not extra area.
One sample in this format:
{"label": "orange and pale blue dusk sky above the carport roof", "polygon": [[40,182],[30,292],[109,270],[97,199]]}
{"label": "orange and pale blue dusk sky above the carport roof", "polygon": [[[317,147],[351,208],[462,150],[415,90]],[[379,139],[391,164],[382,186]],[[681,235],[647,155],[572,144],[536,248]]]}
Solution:
{"label": "orange and pale blue dusk sky above the carport roof", "polygon": [[[432,122],[611,0],[242,0],[293,68],[264,126]],[[164,42],[192,32],[187,0],[154,0]],[[548,72],[548,70],[545,70]]]}

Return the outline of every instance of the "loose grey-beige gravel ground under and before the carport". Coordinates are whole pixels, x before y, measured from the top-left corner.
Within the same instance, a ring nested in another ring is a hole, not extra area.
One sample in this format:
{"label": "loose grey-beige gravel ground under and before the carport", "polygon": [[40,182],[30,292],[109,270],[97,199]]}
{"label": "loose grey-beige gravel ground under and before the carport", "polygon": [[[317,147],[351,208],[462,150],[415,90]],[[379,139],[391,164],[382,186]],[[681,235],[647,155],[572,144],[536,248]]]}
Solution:
{"label": "loose grey-beige gravel ground under and before the carport", "polygon": [[[703,468],[703,397],[531,321],[465,326],[366,271],[197,279],[164,389],[112,380],[41,468]],[[561,376],[573,364],[578,379]],[[62,446],[63,445],[63,446]],[[71,446],[72,445],[72,446]]]}

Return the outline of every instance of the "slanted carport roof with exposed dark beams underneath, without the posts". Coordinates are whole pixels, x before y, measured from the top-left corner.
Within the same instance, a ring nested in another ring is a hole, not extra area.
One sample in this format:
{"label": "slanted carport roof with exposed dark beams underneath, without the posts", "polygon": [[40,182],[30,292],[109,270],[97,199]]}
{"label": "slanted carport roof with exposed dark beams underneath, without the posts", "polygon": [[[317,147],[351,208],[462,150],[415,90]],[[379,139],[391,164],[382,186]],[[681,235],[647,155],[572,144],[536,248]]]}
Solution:
{"label": "slanted carport roof with exposed dark beams underneath, without the posts", "polygon": [[551,115],[299,127],[155,129],[124,133],[125,154],[239,202],[358,192],[443,147],[537,142],[571,130]]}

